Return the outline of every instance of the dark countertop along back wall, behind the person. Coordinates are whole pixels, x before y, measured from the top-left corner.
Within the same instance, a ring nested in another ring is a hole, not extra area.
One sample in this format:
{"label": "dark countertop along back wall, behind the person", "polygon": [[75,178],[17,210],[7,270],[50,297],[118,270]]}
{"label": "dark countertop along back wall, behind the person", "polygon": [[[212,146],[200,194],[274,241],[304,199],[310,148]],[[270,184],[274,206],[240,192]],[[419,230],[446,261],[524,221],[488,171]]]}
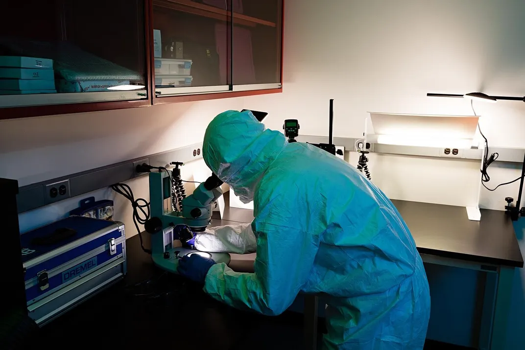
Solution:
{"label": "dark countertop along back wall, behind the person", "polygon": [[[481,209],[481,221],[470,221],[465,207],[392,200],[405,220],[422,254],[479,263],[523,267],[518,239],[505,211]],[[251,222],[253,211],[226,208],[224,220],[213,226]],[[254,259],[254,257],[252,258]],[[239,269],[249,266],[242,257],[232,257]]]}

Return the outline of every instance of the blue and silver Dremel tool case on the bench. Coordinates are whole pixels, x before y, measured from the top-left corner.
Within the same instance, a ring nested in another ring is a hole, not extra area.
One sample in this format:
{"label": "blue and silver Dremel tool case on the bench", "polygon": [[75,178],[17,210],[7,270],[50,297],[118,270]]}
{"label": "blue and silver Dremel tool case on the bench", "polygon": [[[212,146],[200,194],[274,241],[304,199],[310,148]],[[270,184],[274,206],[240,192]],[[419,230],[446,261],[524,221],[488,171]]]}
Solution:
{"label": "blue and silver Dremel tool case on the bench", "polygon": [[124,224],[70,216],[20,236],[27,309],[44,325],[126,273]]}

